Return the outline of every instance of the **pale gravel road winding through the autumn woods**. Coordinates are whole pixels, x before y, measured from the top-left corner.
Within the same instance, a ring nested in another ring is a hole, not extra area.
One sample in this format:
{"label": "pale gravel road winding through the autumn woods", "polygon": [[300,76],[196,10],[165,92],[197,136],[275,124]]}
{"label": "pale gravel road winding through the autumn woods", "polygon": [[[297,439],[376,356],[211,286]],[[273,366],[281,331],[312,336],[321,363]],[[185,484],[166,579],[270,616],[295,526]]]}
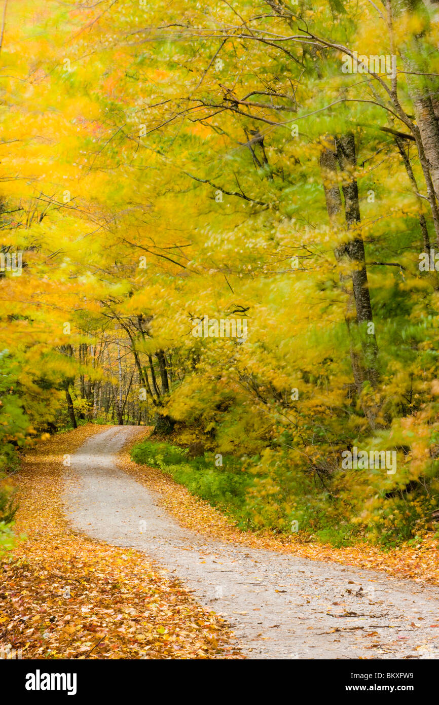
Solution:
{"label": "pale gravel road winding through the autumn woods", "polygon": [[107,427],[85,441],[66,468],[66,514],[92,539],[128,549],[128,556],[146,554],[161,580],[182,580],[233,628],[232,658],[239,658],[238,646],[247,658],[439,656],[438,589],[347,567],[342,553],[340,563],[328,562],[316,547],[314,557],[326,562],[311,560],[300,552],[312,547],[237,532],[166,475],[129,460],[123,449],[144,434]]}

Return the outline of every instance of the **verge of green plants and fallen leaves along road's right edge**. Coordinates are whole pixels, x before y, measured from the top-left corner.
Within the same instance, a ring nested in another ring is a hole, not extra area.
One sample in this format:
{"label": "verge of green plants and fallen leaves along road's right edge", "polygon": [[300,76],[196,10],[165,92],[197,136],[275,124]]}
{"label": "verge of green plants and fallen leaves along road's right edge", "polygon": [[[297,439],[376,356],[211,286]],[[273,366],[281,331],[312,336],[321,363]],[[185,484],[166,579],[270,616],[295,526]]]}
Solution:
{"label": "verge of green plants and fallen leaves along road's right edge", "polygon": [[[146,429],[145,436],[148,433]],[[439,584],[439,546],[431,534],[397,548],[364,540],[337,546],[337,536],[334,539],[334,535],[328,536],[324,531],[310,538],[302,532],[282,533],[256,527],[245,510],[245,493],[252,480],[240,479],[240,464],[233,458],[223,458],[223,467],[216,468],[214,456],[190,458],[184,448],[145,437],[134,447],[123,449],[120,465],[158,493],[160,503],[180,525],[212,539]]]}

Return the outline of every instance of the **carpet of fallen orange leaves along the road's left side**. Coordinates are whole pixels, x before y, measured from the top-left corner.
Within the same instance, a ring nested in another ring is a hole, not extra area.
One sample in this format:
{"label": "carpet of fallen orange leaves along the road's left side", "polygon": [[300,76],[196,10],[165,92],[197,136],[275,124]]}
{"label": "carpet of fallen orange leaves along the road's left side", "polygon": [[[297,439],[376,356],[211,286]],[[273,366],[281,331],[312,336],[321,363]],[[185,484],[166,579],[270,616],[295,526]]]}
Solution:
{"label": "carpet of fallen orange leaves along the road's left side", "polygon": [[224,620],[144,553],[68,525],[61,496],[70,455],[108,429],[88,424],[39,442],[9,482],[20,501],[16,533],[26,538],[0,560],[0,646],[22,649],[23,659],[242,658]]}

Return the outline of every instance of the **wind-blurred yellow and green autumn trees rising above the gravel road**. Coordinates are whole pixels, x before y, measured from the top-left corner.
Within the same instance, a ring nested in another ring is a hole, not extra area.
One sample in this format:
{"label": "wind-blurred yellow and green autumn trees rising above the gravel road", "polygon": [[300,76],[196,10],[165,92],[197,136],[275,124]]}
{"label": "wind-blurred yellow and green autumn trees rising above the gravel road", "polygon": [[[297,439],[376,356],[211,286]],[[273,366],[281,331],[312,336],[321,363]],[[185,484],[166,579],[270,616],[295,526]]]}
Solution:
{"label": "wind-blurred yellow and green autumn trees rising above the gravel road", "polygon": [[[438,13],[4,4],[5,469],[87,419],[154,424],[239,459],[249,525],[428,528]],[[347,472],[353,448],[397,472]]]}

